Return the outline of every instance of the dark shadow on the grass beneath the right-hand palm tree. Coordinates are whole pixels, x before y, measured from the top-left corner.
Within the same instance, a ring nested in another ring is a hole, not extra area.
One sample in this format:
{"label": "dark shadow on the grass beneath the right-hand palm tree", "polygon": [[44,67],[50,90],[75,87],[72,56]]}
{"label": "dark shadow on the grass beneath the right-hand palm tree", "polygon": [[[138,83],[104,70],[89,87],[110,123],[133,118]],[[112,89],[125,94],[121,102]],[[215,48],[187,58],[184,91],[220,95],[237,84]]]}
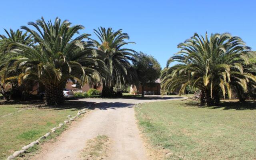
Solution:
{"label": "dark shadow on the grass beneath the right-hand palm tree", "polygon": [[208,108],[208,109],[218,109],[222,110],[256,110],[256,101],[245,101],[245,102],[226,102],[221,101],[219,106],[200,106],[199,102],[187,101],[181,106],[193,107],[193,108]]}

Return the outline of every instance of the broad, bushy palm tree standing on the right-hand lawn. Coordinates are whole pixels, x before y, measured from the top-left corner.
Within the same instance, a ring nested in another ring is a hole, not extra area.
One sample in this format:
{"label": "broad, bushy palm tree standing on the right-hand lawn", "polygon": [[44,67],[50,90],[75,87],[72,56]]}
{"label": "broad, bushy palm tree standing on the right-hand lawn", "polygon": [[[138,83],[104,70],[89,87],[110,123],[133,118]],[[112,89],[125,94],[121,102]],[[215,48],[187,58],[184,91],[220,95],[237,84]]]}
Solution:
{"label": "broad, bushy palm tree standing on the right-hand lawn", "polygon": [[231,97],[231,84],[247,92],[248,82],[256,82],[256,77],[243,68],[243,64],[249,64],[250,47],[237,36],[216,33],[208,39],[207,32],[205,38],[195,33],[178,48],[180,51],[168,60],[167,66],[174,61],[179,63],[162,72],[162,94],[177,87],[182,94],[190,85],[201,90],[201,104],[206,100],[211,106],[218,105],[220,92],[224,98],[226,93]]}

